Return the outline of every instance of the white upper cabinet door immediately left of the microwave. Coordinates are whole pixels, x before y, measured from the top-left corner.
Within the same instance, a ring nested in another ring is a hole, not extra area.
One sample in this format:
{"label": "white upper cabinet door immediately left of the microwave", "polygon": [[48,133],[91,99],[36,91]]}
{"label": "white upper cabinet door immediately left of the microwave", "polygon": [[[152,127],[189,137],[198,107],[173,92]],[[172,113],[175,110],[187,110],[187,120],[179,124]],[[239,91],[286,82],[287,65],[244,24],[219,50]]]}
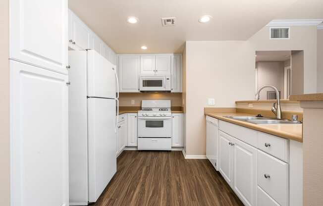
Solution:
{"label": "white upper cabinet door immediately left of the microwave", "polygon": [[119,56],[120,92],[139,92],[139,55]]}

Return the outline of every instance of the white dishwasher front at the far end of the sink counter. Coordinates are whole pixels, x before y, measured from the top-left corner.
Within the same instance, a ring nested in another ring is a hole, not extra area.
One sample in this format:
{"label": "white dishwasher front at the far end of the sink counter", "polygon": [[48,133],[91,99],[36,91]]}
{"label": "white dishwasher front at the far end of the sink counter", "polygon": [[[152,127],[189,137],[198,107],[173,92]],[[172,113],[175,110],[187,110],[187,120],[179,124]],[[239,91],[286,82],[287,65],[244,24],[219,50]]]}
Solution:
{"label": "white dishwasher front at the far end of the sink counter", "polygon": [[207,120],[207,144],[206,154],[214,168],[217,170],[217,140],[218,140],[218,127],[217,125]]}

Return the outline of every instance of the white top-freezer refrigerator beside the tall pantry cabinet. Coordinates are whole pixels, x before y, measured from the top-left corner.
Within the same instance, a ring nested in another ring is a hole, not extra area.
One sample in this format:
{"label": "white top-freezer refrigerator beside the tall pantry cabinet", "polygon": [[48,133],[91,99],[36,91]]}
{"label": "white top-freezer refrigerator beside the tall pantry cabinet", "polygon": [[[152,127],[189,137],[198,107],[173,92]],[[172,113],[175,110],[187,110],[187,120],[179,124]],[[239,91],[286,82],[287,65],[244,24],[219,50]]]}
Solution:
{"label": "white top-freezer refrigerator beside the tall pantry cabinet", "polygon": [[69,51],[69,202],[98,200],[116,172],[118,79],[94,50]]}

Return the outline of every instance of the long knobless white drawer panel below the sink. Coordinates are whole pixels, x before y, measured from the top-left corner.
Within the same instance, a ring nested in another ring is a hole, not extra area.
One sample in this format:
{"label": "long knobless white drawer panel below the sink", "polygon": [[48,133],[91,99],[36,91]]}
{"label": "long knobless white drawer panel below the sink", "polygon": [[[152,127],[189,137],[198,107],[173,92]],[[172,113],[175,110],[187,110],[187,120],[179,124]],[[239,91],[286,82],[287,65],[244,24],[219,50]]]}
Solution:
{"label": "long knobless white drawer panel below the sink", "polygon": [[219,121],[219,130],[245,142],[249,145],[257,147],[257,131],[248,129],[226,121]]}

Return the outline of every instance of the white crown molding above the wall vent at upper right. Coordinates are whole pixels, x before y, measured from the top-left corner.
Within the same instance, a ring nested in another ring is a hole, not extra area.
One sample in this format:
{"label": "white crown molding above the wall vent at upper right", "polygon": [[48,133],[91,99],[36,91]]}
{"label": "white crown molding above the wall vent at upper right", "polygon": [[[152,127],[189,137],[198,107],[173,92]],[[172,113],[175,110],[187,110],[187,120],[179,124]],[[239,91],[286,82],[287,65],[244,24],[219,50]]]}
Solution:
{"label": "white crown molding above the wall vent at upper right", "polygon": [[266,26],[318,26],[323,22],[323,19],[286,19],[286,20],[271,20]]}

